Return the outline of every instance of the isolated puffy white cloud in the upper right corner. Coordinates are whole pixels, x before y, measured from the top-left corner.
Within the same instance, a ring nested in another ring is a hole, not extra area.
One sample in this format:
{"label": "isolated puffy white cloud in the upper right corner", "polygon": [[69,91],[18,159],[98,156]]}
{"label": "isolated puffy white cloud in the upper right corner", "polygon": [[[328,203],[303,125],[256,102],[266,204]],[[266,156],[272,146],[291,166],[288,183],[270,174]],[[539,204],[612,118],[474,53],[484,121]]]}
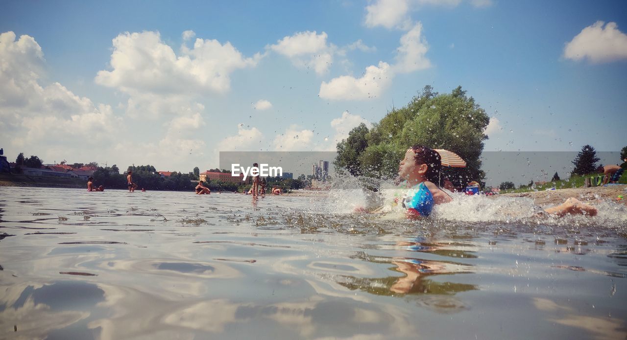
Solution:
{"label": "isolated puffy white cloud in the upper right corner", "polygon": [[564,47],[564,58],[591,63],[627,59],[627,34],[619,31],[616,23],[597,21],[581,30]]}

